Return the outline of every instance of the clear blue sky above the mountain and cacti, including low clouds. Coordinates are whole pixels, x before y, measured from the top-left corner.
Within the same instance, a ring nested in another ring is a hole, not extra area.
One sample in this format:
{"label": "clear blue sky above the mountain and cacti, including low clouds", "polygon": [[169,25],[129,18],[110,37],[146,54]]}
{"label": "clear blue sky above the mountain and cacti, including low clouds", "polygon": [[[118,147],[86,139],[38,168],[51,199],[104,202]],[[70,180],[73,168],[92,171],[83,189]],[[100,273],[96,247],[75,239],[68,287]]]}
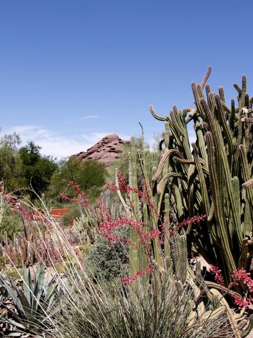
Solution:
{"label": "clear blue sky above the mountain and cacti, including low clouds", "polygon": [[147,141],[159,115],[193,107],[207,66],[213,91],[247,75],[253,92],[253,2],[2,0],[0,112],[44,154],[85,151],[108,133]]}

